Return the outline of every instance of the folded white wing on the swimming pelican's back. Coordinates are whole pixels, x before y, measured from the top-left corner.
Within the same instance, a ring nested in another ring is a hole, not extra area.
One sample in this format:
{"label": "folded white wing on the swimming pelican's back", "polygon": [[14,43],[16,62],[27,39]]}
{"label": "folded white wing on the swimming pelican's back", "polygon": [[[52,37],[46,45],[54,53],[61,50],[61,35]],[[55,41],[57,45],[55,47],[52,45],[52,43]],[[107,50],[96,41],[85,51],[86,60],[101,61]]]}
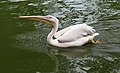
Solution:
{"label": "folded white wing on the swimming pelican's back", "polygon": [[84,24],[74,25],[72,27],[68,27],[59,31],[57,33],[59,36],[57,37],[57,40],[59,42],[72,42],[87,35],[92,35],[94,33],[95,33],[95,29],[84,23]]}

